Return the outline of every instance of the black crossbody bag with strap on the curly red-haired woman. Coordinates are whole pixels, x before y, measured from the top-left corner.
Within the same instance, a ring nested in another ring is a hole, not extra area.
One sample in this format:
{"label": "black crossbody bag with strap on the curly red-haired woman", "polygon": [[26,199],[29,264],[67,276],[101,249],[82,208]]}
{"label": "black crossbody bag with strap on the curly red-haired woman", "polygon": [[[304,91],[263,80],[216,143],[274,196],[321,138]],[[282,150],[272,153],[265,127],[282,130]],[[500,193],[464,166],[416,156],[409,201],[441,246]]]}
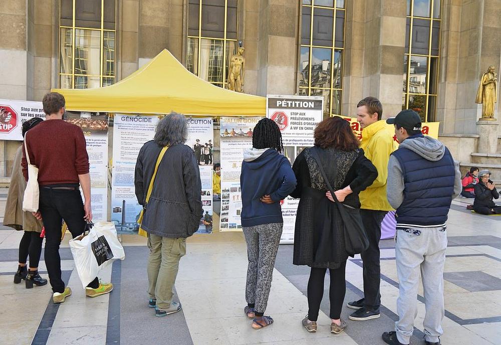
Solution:
{"label": "black crossbody bag with strap on the curly red-haired woman", "polygon": [[[367,238],[367,234],[365,233],[364,224],[362,223],[362,217],[360,216],[360,209],[356,209],[338,201],[336,194],[334,194],[334,190],[332,189],[332,186],[327,179],[324,168],[322,167],[317,149],[317,147],[313,147],[311,149],[311,152],[313,153],[313,158],[317,162],[322,177],[327,184],[327,188],[329,188],[332,198],[335,200],[335,204],[337,205],[339,213],[341,214],[341,218],[343,219],[346,252],[351,256],[360,254],[363,251],[367,250],[367,248],[369,248],[369,239]],[[334,162],[334,164],[336,168],[335,175],[337,175],[337,163]]]}

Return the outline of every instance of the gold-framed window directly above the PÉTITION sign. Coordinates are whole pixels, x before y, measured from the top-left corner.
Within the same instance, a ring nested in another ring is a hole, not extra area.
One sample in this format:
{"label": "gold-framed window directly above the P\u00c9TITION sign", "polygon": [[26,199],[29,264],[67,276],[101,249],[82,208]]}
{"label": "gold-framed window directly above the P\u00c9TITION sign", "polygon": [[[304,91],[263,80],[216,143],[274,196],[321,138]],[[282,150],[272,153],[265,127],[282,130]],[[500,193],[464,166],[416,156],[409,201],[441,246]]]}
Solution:
{"label": "gold-framed window directly above the P\u00c9TITION sign", "polygon": [[299,95],[323,96],[326,116],[341,114],[345,0],[303,0]]}

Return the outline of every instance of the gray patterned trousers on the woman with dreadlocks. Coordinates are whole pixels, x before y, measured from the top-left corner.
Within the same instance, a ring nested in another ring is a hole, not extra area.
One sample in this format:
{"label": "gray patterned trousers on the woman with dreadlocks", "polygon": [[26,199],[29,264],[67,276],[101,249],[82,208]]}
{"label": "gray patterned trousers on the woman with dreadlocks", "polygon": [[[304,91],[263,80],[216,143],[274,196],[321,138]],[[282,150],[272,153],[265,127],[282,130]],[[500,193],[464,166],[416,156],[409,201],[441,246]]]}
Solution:
{"label": "gray patterned trousers on the woman with dreadlocks", "polygon": [[272,286],[273,268],[284,223],[244,227],[247,242],[247,283],[245,299],[254,306],[256,316],[263,316]]}

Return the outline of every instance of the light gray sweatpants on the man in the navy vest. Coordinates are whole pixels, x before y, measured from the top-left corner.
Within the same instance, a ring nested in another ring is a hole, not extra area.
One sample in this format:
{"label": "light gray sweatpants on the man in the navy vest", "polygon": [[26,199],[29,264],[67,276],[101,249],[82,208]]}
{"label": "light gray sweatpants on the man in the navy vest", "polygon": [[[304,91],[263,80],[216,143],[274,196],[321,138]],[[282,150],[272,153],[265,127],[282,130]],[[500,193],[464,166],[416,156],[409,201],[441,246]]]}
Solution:
{"label": "light gray sweatpants on the man in the navy vest", "polygon": [[395,322],[398,341],[403,344],[410,342],[417,316],[417,290],[421,271],[426,308],[423,322],[425,339],[437,342],[443,333],[443,267],[447,248],[445,228],[397,230],[396,237],[395,257],[400,281],[397,299],[399,320]]}

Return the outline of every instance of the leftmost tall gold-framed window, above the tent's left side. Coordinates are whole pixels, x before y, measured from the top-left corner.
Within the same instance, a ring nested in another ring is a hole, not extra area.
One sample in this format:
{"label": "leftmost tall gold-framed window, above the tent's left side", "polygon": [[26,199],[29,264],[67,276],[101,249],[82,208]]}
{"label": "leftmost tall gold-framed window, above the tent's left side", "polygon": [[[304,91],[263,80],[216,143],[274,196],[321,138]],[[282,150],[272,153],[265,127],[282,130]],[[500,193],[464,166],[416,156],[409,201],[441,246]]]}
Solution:
{"label": "leftmost tall gold-framed window, above the tent's left side", "polygon": [[87,89],[115,83],[116,0],[61,0],[59,86]]}

